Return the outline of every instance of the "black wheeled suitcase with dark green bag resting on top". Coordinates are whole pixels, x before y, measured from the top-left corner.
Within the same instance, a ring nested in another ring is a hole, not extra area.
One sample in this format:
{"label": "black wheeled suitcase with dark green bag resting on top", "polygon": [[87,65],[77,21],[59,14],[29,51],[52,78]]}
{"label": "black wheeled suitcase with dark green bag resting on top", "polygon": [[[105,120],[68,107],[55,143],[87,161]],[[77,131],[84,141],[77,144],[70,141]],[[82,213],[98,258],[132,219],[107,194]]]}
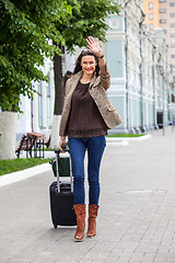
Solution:
{"label": "black wheeled suitcase with dark green bag resting on top", "polygon": [[[69,150],[65,149],[69,155]],[[54,174],[57,181],[49,187],[50,211],[52,225],[57,226],[77,226],[77,217],[73,210],[73,179],[70,156],[60,157],[60,150],[56,150],[56,161],[51,160]],[[69,167],[68,167],[69,165]],[[68,174],[69,173],[69,174]],[[70,181],[60,181],[60,178],[69,176]]]}

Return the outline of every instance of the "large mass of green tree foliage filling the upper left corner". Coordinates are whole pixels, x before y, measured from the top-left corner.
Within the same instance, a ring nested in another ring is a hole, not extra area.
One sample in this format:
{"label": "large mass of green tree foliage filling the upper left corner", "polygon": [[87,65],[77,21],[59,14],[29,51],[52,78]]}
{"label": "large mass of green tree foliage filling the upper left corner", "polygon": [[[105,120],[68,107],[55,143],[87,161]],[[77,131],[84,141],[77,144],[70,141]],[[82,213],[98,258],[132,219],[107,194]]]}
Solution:
{"label": "large mass of green tree foliage filling the upper left corner", "polygon": [[46,80],[39,67],[45,56],[59,53],[49,39],[57,44],[63,42],[56,23],[61,25],[69,15],[71,5],[67,1],[0,1],[0,107],[3,111],[12,111],[20,94],[32,96],[32,81]]}

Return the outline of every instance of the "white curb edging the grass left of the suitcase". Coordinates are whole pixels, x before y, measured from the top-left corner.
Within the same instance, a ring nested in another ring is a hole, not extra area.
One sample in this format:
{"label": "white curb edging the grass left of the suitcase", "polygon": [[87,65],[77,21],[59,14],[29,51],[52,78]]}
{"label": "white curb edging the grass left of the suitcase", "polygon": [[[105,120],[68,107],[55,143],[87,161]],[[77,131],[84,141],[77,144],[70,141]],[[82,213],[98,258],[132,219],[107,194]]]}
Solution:
{"label": "white curb edging the grass left of the suitcase", "polygon": [[51,165],[49,163],[43,163],[33,168],[27,168],[22,171],[8,173],[0,176],[0,186],[16,183],[21,180],[25,180],[47,171],[51,171]]}

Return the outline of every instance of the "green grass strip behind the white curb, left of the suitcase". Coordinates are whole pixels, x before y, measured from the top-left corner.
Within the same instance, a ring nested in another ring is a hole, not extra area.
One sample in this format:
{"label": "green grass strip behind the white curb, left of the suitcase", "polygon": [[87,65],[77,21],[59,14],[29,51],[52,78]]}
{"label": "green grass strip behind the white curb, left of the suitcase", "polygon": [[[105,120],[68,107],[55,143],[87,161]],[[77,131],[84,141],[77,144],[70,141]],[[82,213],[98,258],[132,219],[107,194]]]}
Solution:
{"label": "green grass strip behind the white curb, left of the suitcase", "polygon": [[0,175],[32,168],[48,162],[49,160],[50,159],[40,158],[27,158],[27,159],[19,158],[14,160],[0,160]]}

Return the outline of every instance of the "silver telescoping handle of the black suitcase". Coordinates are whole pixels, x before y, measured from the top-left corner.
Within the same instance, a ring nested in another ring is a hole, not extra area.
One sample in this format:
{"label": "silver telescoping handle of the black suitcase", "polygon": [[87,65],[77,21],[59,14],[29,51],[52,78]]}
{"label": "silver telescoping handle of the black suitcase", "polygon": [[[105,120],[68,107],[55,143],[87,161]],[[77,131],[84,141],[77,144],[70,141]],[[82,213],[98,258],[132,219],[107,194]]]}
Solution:
{"label": "silver telescoping handle of the black suitcase", "polygon": [[[63,145],[62,147],[62,150],[63,152],[69,152],[69,149],[66,148],[68,145],[68,142],[66,145]],[[58,150],[55,150],[55,153],[56,153],[56,173],[57,173],[57,187],[58,187],[58,193],[60,193],[60,183],[59,183],[59,153],[61,151],[58,149]],[[69,175],[68,175],[69,176]],[[71,193],[73,193],[73,176],[72,176],[72,165],[71,165],[71,159],[70,159],[70,184],[71,184]]]}

